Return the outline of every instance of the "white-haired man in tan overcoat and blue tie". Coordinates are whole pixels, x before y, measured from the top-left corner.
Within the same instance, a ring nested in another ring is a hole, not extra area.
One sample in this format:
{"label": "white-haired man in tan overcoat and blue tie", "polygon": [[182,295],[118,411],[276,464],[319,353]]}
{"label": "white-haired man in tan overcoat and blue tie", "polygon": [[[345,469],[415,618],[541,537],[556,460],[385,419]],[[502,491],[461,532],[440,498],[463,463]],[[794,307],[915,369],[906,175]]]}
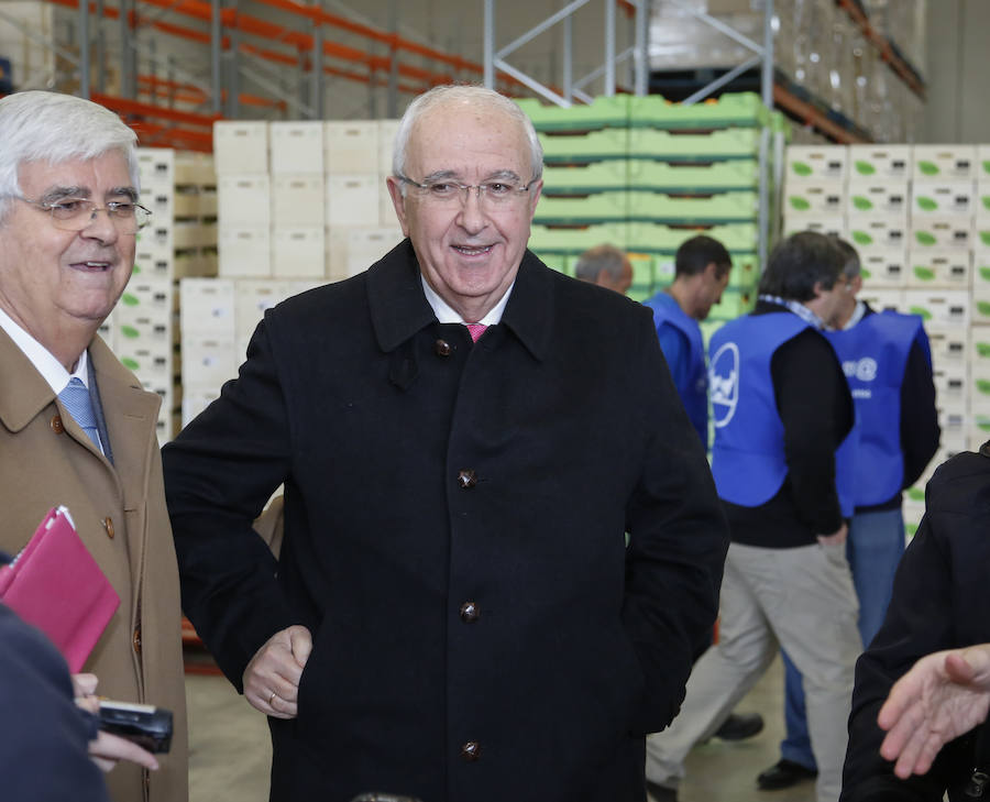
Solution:
{"label": "white-haired man in tan overcoat and blue tie", "polygon": [[[121,600],[84,671],[97,674],[101,695],[175,716],[161,768],[121,762],[107,776],[111,798],[183,802],[185,685],[160,399],[97,336],[147,218],[136,136],[100,106],[30,91],[0,100],[0,549],[16,552],[51,507],[68,507]],[[82,400],[68,400],[80,387]]]}

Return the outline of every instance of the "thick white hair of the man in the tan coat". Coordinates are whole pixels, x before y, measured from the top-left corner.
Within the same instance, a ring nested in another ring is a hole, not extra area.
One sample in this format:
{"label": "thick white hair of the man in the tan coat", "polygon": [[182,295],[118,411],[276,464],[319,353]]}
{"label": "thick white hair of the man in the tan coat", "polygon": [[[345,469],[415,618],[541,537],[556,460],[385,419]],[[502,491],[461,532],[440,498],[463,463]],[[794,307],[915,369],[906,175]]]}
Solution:
{"label": "thick white hair of the man in the tan coat", "polygon": [[18,171],[28,162],[89,161],[110,151],[128,160],[140,190],[138,134],[109,109],[72,95],[24,91],[0,100],[0,222],[21,195]]}

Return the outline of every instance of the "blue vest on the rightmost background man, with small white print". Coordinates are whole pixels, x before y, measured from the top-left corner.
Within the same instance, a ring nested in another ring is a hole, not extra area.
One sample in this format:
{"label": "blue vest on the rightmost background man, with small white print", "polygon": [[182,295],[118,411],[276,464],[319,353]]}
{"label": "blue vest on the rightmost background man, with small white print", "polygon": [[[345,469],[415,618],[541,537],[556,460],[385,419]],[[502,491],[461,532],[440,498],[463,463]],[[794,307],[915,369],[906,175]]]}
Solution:
{"label": "blue vest on the rightmost background man, with small white print", "polygon": [[928,338],[920,316],[894,311],[867,315],[851,329],[829,331],[826,337],[843,363],[856,404],[856,506],[882,504],[903,488],[901,385],[914,342],[932,364]]}

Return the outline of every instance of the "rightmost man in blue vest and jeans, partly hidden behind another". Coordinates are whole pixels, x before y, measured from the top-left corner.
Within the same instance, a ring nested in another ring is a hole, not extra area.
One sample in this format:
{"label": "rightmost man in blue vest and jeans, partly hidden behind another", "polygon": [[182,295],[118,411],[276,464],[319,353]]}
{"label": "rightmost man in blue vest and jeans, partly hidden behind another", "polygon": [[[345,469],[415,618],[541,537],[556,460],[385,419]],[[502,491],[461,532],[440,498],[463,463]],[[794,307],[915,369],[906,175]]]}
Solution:
{"label": "rightmost man in blue vest and jeans, partly hidden behind another", "polygon": [[[846,556],[859,598],[859,634],[868,646],[883,623],[894,571],[904,552],[901,492],[913,485],[938,449],[938,413],[928,338],[919,315],[875,312],[857,300],[862,287],[859,254],[836,244],[846,259],[839,314],[832,341],[856,404],[858,444],[855,510]],[[801,674],[784,655],[787,738],[781,759],[757,783],[789,788],[813,777],[815,759],[804,715]]]}

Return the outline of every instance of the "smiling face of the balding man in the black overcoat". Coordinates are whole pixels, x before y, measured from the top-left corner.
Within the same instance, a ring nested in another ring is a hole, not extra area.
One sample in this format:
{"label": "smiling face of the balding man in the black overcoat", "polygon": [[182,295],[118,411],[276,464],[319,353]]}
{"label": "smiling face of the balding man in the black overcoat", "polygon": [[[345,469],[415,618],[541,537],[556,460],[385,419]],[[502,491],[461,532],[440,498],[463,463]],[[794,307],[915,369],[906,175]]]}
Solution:
{"label": "smiling face of the balding man in the black overcoat", "polygon": [[[520,185],[532,179],[530,150],[518,120],[476,102],[448,102],[416,122],[406,151],[406,171],[416,182],[446,178],[477,185],[491,178]],[[542,182],[494,210],[476,190],[464,204],[440,205],[388,179],[403,232],[413,241],[427,283],[466,322],[480,320],[516,278]]]}

